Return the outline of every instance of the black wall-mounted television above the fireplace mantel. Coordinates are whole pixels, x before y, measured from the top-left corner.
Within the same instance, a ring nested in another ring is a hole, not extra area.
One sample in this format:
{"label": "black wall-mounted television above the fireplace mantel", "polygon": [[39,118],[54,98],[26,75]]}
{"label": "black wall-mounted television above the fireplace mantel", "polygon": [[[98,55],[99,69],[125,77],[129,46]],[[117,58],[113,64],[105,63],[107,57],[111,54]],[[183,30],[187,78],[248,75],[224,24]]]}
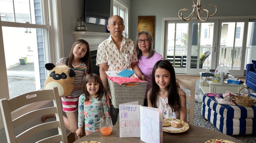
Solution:
{"label": "black wall-mounted television above the fireplace mantel", "polygon": [[85,0],[85,22],[107,25],[111,0]]}

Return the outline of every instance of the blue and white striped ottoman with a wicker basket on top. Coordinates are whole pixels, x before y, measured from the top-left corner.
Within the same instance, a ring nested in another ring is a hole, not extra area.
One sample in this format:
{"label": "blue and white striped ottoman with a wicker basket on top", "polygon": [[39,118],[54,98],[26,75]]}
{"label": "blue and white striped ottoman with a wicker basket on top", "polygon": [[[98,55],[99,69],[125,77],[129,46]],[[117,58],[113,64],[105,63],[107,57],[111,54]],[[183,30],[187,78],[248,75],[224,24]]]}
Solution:
{"label": "blue and white striped ottoman with a wicker basket on top", "polygon": [[[255,97],[255,93],[250,94]],[[215,97],[203,96],[202,116],[227,135],[256,134],[256,106],[218,104]]]}

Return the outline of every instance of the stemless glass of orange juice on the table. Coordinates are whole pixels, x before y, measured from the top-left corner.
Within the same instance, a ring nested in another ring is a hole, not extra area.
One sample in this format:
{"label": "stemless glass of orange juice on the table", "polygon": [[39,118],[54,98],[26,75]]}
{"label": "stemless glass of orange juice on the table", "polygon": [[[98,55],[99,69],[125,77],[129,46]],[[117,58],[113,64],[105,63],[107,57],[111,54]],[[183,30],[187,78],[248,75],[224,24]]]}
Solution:
{"label": "stemless glass of orange juice on the table", "polygon": [[103,135],[109,135],[112,132],[113,124],[110,116],[103,116],[100,118],[100,132]]}

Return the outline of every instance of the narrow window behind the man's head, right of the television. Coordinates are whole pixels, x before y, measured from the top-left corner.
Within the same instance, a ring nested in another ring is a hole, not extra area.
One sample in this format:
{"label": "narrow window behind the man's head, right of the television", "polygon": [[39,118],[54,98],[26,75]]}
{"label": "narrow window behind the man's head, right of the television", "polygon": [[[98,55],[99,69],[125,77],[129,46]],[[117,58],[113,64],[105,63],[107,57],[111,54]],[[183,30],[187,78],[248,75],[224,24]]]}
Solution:
{"label": "narrow window behind the man's head, right of the television", "polygon": [[124,19],[124,37],[128,38],[128,6],[119,0],[113,1],[113,15],[119,15]]}

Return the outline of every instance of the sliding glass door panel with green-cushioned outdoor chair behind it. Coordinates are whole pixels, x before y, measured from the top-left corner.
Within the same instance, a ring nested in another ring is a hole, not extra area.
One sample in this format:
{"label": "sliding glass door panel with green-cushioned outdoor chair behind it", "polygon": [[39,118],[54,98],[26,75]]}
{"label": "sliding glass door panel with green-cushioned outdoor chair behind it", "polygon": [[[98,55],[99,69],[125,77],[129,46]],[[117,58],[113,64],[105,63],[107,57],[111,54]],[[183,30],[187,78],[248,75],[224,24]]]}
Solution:
{"label": "sliding glass door panel with green-cushioned outdoor chair behind it", "polygon": [[199,22],[198,20],[189,22],[189,51],[190,66],[189,74],[199,74],[214,64],[212,51],[216,47],[216,27],[217,21],[207,20]]}

